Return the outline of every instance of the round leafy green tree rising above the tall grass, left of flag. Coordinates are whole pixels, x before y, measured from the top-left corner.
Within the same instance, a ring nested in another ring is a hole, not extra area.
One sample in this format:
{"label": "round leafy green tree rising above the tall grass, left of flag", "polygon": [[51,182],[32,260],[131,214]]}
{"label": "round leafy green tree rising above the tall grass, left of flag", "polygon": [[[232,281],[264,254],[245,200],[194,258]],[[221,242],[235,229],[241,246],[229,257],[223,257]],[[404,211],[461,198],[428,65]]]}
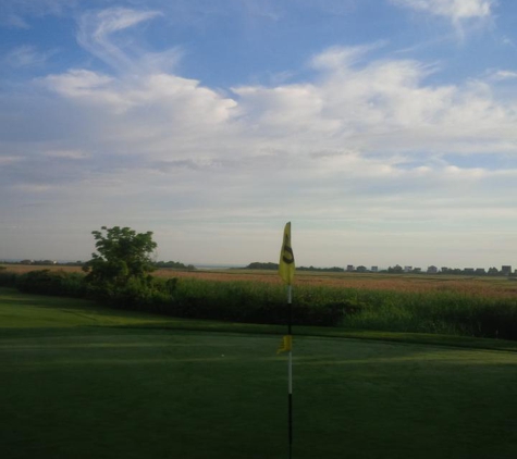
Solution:
{"label": "round leafy green tree rising above the tall grass, left of flag", "polygon": [[98,253],[83,266],[86,281],[102,287],[124,287],[131,280],[146,281],[153,271],[151,253],[157,247],[152,233],[128,227],[101,227],[91,232]]}

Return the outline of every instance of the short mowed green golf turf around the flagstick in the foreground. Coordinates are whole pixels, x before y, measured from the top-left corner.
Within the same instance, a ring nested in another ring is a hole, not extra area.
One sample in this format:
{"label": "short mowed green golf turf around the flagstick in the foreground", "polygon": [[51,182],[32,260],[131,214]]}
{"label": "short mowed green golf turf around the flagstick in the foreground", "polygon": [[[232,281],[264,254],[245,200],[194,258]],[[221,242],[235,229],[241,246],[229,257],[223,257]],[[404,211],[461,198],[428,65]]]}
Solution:
{"label": "short mowed green golf turf around the flagstick in the foreground", "polygon": [[[279,336],[179,324],[1,289],[0,457],[286,458]],[[297,336],[294,381],[293,458],[517,454],[514,352]]]}

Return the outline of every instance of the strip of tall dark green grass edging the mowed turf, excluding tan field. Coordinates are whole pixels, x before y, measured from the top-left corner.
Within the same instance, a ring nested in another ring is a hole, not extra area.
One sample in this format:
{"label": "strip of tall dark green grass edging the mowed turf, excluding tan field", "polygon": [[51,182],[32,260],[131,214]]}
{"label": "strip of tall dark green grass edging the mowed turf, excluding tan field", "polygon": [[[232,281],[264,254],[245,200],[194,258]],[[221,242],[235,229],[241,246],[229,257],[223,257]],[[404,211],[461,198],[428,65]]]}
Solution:
{"label": "strip of tall dark green grass edging the mowed turf, excluding tan field", "polygon": [[[15,277],[2,272],[0,285],[16,285],[26,293],[95,298],[121,309],[180,318],[268,324],[287,320],[286,290],[280,282],[153,277],[98,291],[84,283],[81,273],[44,270]],[[517,339],[517,297],[507,293],[377,287],[295,285],[293,323]]]}

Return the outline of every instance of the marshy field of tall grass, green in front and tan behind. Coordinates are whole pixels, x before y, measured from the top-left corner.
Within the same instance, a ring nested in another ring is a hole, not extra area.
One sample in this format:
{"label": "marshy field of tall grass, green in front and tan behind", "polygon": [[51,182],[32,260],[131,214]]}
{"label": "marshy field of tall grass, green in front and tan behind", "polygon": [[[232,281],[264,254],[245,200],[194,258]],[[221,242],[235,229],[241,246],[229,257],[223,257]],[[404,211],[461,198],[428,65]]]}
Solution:
{"label": "marshy field of tall grass, green in front and tan behind", "polygon": [[[76,269],[33,275],[16,268],[0,284],[11,276],[22,291],[88,297]],[[133,286],[111,302],[180,318],[286,321],[285,287],[274,272],[160,270],[151,289]],[[506,277],[304,272],[293,309],[295,325],[517,339],[517,283]]]}

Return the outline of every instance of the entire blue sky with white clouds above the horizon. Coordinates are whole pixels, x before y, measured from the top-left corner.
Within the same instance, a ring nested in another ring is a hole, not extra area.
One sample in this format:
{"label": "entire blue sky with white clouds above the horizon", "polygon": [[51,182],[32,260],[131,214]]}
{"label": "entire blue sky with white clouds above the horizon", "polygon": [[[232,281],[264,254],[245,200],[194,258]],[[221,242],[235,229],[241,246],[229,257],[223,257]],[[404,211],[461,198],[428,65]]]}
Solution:
{"label": "entire blue sky with white clouds above the horizon", "polygon": [[2,0],[0,260],[517,268],[514,0]]}

